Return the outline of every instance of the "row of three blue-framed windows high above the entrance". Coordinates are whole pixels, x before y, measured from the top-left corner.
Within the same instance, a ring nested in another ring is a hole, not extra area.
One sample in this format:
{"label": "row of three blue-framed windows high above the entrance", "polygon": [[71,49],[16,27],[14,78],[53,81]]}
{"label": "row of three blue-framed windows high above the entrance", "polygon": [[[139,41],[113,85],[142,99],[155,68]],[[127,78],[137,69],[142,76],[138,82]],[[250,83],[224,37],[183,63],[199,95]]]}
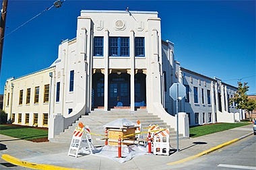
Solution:
{"label": "row of three blue-framed windows high above the entrance", "polygon": [[[108,56],[129,56],[129,37],[109,37]],[[94,37],[94,56],[103,56],[104,38]],[[143,37],[135,37],[135,56],[145,56],[145,41]]]}

